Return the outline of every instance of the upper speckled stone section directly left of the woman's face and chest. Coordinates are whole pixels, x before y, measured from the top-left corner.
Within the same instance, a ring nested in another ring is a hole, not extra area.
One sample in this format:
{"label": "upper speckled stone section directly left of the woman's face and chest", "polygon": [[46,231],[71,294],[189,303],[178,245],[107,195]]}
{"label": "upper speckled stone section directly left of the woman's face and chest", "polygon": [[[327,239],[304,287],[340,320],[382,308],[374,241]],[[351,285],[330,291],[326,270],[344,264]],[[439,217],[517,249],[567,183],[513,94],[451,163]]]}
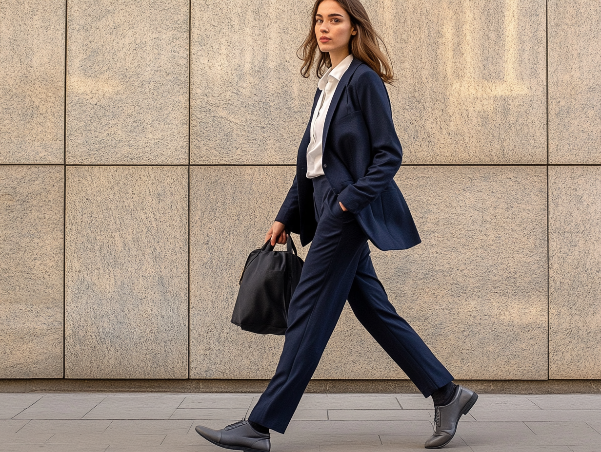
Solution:
{"label": "upper speckled stone section directly left of the woman's face and chest", "polygon": [[192,163],[296,161],[317,89],[296,57],[312,5],[192,0]]}

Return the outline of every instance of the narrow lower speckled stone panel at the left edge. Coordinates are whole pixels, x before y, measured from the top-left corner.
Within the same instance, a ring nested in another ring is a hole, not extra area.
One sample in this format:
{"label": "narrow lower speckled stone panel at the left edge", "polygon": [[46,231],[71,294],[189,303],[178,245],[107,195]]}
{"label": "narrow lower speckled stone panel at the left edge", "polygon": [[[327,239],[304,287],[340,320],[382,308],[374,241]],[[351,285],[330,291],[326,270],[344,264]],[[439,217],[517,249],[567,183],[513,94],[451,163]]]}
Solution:
{"label": "narrow lower speckled stone panel at the left edge", "polygon": [[0,166],[0,378],[63,376],[63,166]]}

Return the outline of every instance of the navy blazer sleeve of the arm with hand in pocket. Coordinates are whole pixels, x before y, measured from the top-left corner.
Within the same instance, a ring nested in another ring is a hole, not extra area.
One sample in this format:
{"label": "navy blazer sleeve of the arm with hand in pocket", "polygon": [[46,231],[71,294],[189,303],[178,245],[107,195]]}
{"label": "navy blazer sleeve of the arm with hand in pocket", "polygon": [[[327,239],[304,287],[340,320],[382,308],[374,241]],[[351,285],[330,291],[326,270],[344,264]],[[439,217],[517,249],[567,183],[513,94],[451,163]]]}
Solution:
{"label": "navy blazer sleeve of the arm with hand in pocket", "polygon": [[388,187],[401,166],[403,149],[392,122],[390,99],[382,79],[374,71],[365,71],[356,80],[355,91],[370,134],[372,158],[365,175],[344,188],[338,200],[356,214]]}

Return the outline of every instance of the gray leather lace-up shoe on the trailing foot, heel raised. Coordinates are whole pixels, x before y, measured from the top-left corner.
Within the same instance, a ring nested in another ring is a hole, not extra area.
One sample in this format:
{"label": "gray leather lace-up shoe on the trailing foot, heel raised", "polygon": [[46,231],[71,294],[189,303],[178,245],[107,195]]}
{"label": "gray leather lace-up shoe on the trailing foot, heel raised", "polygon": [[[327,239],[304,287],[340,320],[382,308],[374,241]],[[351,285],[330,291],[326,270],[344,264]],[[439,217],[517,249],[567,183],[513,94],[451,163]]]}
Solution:
{"label": "gray leather lace-up shoe on the trailing foot, heel raised", "polygon": [[426,441],[427,449],[445,447],[453,439],[457,430],[457,423],[462,414],[468,411],[478,400],[478,394],[459,385],[448,405],[434,407],[434,435]]}

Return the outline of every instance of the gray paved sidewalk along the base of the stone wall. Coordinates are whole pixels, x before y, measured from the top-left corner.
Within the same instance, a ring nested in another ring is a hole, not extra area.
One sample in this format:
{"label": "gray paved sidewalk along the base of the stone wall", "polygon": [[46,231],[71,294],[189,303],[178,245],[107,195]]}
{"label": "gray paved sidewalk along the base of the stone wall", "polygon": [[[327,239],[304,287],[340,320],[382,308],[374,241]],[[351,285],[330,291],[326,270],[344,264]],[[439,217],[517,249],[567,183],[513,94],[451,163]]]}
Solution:
{"label": "gray paved sidewalk along the base of the stone wall", "polygon": [[[197,424],[246,417],[257,394],[0,394],[1,452],[220,452]],[[273,452],[425,451],[430,399],[414,394],[306,394]],[[490,396],[459,423],[448,450],[601,452],[601,396]]]}

